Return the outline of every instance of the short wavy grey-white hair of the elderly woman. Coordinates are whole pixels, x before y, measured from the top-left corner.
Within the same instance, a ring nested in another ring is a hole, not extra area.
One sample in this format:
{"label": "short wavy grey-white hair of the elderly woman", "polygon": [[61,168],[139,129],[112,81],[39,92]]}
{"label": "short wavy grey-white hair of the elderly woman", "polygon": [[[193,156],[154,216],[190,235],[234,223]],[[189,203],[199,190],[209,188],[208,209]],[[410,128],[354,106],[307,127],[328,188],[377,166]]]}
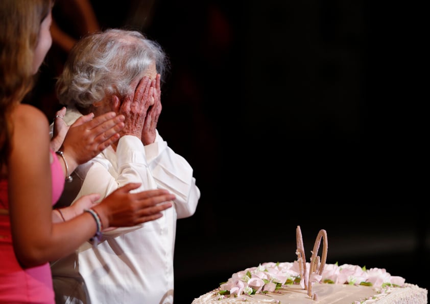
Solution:
{"label": "short wavy grey-white hair of the elderly woman", "polygon": [[88,107],[106,95],[126,96],[133,79],[156,64],[161,80],[169,61],[161,46],[137,31],[108,29],[82,38],[71,49],[57,80],[61,104]]}

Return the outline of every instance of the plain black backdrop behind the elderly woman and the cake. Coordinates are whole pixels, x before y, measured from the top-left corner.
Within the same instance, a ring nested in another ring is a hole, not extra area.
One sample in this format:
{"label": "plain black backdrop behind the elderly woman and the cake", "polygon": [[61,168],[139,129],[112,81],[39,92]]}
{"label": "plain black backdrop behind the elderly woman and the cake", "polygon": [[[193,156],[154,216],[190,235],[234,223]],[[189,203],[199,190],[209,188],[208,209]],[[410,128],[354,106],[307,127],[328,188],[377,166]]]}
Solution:
{"label": "plain black backdrop behind the elderly woman and the cake", "polygon": [[103,28],[141,30],[172,63],[158,130],[201,190],[178,220],[175,303],[293,261],[297,226],[308,258],[325,229],[328,263],[430,287],[419,16],[364,0],[138,3],[92,1]]}

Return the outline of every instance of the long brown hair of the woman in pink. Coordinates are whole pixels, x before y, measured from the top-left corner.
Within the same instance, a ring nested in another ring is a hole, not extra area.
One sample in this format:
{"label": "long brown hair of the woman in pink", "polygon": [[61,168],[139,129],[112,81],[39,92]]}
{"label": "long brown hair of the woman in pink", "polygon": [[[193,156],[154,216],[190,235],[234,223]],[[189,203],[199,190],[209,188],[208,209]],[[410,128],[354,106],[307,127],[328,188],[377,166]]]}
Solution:
{"label": "long brown hair of the woman in pink", "polygon": [[11,151],[10,113],[33,88],[40,24],[52,0],[0,1],[0,172]]}

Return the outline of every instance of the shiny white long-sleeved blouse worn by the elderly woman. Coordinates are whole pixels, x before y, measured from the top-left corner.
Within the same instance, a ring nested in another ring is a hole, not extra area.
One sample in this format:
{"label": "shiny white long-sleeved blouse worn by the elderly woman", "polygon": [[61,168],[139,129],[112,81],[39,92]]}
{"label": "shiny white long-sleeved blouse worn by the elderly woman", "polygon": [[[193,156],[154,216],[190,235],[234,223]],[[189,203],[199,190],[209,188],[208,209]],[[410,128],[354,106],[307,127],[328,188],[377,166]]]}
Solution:
{"label": "shiny white long-sleeved blouse worn by the elderly woman", "polygon": [[[70,125],[79,115],[68,108],[65,121]],[[52,263],[56,297],[89,299],[91,304],[173,303],[176,220],[193,215],[200,198],[189,163],[157,131],[155,142],[147,146],[135,136],[121,137],[116,152],[108,147],[75,173],[82,184],[76,199],[94,192],[105,198],[118,187],[139,182],[133,191],[168,189],[176,200],[161,218],[107,231],[97,246],[86,242],[75,255]]]}

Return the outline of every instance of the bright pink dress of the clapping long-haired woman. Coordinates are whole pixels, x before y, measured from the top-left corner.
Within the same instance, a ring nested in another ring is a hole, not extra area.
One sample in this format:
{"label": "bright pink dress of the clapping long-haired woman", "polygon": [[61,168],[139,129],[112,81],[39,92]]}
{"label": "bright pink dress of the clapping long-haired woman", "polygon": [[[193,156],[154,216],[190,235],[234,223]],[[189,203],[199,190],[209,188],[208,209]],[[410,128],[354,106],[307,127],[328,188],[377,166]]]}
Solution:
{"label": "bright pink dress of the clapping long-haired woman", "polygon": [[[51,151],[53,205],[64,188],[64,173],[58,157]],[[25,190],[25,185],[23,185]],[[29,202],[31,203],[31,202]],[[9,215],[8,181],[0,180],[0,303],[55,303],[49,263],[22,268],[12,246]],[[3,211],[3,212],[1,212]]]}

